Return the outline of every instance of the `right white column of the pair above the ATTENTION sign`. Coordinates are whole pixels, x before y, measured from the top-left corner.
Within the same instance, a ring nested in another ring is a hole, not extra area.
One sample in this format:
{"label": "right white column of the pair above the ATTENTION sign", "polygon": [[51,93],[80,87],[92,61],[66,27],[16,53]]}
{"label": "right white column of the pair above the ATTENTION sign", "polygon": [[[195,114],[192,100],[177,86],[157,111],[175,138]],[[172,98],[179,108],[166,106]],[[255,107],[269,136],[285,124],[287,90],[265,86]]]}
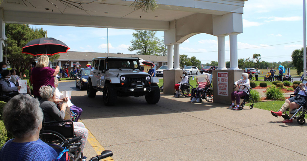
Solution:
{"label": "right white column of the pair above the ATTENTION sign", "polygon": [[230,41],[230,68],[229,70],[239,70],[238,68],[238,34],[229,34]]}

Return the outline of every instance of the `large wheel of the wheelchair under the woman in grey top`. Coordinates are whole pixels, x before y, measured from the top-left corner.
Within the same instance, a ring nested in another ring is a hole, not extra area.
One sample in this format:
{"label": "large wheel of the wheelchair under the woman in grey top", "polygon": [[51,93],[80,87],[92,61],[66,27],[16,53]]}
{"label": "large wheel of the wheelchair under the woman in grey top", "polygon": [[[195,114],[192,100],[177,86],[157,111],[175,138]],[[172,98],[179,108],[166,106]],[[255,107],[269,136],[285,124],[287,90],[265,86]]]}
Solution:
{"label": "large wheel of the wheelchair under the woman in grey top", "polygon": [[57,144],[60,146],[66,140],[63,135],[61,135],[56,131],[51,131],[51,130],[41,131],[39,137],[45,143]]}

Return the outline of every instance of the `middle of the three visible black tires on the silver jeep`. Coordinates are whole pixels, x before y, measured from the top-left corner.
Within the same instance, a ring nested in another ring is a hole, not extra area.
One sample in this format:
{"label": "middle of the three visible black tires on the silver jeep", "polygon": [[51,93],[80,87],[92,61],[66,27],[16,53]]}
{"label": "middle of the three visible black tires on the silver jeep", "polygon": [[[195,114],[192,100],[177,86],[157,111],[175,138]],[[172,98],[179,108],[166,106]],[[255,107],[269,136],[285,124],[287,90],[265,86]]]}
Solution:
{"label": "middle of the three visible black tires on the silver jeep", "polygon": [[106,106],[113,106],[117,99],[117,92],[112,84],[108,83],[103,87],[103,103]]}

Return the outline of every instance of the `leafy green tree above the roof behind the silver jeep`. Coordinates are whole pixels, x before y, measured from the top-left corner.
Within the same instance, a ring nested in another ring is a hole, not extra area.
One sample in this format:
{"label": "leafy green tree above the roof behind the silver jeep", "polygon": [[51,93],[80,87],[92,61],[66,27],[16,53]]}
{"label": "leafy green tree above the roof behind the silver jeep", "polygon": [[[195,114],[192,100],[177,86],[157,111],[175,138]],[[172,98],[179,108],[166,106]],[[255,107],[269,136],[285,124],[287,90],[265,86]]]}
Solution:
{"label": "leafy green tree above the roof behind the silver jeep", "polygon": [[136,54],[139,55],[159,54],[160,39],[155,36],[156,33],[157,31],[135,30],[135,32],[132,33],[135,39],[130,41],[132,46],[130,46],[128,50],[138,50]]}

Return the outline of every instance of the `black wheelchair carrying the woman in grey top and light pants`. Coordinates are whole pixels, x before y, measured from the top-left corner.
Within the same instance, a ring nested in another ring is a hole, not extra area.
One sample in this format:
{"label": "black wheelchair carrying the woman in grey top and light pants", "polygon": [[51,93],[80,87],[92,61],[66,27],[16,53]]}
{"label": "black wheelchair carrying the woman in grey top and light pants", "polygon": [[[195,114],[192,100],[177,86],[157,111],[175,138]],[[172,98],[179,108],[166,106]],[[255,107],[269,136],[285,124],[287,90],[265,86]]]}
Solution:
{"label": "black wheelchair carrying the woman in grey top and light pants", "polygon": [[76,137],[71,120],[43,122],[39,136],[53,148],[66,147],[70,155],[74,154],[73,161],[80,161],[83,157],[81,137]]}

